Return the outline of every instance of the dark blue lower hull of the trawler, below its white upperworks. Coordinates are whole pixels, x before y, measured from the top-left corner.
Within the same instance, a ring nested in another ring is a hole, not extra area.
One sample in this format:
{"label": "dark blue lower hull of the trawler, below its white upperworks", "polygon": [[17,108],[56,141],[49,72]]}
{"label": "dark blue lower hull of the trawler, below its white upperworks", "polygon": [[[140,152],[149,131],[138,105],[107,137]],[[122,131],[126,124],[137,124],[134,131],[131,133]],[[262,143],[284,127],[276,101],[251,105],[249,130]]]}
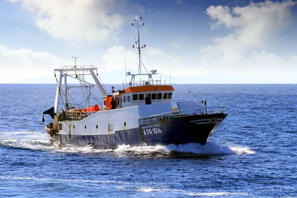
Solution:
{"label": "dark blue lower hull of the trawler, below its white upperworks", "polygon": [[52,145],[58,147],[91,145],[94,148],[116,148],[118,145],[154,146],[199,143],[204,145],[208,137],[226,118],[227,114],[191,115],[169,118],[141,124],[139,128],[115,131],[110,135],[84,135],[69,137],[65,134],[49,136]]}

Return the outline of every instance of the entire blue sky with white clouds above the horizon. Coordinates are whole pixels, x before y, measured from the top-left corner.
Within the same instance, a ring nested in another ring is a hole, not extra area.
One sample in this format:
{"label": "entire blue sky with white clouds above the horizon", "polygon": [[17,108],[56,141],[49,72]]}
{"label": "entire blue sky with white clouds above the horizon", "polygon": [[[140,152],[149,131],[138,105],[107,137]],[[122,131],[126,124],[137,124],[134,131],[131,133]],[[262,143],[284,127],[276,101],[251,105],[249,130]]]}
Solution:
{"label": "entire blue sky with white clouds above the horizon", "polygon": [[77,57],[122,84],[140,17],[142,62],[167,83],[297,83],[297,0],[0,0],[0,83],[56,83]]}

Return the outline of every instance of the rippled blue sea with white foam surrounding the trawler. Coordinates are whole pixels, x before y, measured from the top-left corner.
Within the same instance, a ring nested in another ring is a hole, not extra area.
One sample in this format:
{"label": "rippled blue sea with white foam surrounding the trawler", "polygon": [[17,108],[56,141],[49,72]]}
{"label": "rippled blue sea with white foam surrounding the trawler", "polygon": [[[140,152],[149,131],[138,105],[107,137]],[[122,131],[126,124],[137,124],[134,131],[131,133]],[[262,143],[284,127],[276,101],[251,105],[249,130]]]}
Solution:
{"label": "rippled blue sea with white foam surrounding the trawler", "polygon": [[228,108],[210,141],[114,150],[51,147],[55,86],[0,84],[0,197],[297,197],[297,85],[176,85]]}

